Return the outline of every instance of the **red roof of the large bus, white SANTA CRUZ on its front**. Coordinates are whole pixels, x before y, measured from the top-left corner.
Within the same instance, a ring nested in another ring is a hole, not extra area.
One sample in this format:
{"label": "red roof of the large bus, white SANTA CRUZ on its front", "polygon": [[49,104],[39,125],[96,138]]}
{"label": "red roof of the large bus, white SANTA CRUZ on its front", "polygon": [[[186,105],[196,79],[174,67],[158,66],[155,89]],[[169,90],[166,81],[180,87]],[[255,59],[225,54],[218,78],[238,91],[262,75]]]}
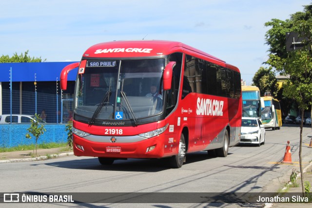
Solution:
{"label": "red roof of the large bus, white SANTA CRUZ on its front", "polygon": [[119,40],[98,43],[83,54],[84,58],[123,58],[123,57],[161,57],[175,52],[205,57],[216,64],[238,71],[238,68],[225,61],[177,41],[167,40]]}

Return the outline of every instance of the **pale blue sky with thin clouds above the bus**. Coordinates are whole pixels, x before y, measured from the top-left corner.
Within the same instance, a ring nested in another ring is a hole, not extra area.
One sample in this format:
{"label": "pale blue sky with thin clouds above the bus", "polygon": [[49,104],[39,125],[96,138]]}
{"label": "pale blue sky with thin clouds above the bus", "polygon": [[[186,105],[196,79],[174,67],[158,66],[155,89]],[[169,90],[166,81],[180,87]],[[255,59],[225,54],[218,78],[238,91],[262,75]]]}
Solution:
{"label": "pale blue sky with thin clouds above the bus", "polygon": [[[237,66],[246,83],[267,60],[264,23],[311,0],[1,0],[0,56],[79,61],[99,42],[180,41]],[[1,70],[1,69],[0,69]]]}

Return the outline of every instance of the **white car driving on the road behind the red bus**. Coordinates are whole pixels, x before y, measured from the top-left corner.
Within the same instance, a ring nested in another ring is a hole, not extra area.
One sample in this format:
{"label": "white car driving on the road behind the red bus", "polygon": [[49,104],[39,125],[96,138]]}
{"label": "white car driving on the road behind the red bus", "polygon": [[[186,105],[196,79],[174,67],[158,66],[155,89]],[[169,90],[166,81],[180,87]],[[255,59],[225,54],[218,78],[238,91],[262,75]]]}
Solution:
{"label": "white car driving on the road behind the red bus", "polygon": [[256,144],[259,147],[265,143],[264,125],[258,118],[242,117],[240,143]]}

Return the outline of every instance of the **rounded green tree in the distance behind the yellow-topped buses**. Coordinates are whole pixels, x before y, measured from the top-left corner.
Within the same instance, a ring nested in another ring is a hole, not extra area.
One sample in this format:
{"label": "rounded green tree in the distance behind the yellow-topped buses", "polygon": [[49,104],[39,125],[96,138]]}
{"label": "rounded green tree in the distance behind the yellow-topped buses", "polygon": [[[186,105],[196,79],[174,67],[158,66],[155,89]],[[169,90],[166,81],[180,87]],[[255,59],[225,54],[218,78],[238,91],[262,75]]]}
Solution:
{"label": "rounded green tree in the distance behind the yellow-topped buses", "polygon": [[270,69],[260,67],[253,77],[253,82],[253,85],[259,88],[261,96],[269,91],[272,96],[276,97],[278,93],[277,79]]}

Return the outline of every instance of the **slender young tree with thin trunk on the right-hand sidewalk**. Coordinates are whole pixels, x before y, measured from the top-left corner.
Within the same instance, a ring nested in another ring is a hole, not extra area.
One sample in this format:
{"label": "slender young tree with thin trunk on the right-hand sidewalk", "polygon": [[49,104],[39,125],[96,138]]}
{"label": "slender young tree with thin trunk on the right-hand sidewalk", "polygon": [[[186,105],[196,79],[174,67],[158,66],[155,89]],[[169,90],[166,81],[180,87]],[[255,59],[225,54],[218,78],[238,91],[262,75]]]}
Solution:
{"label": "slender young tree with thin trunk on the right-hand sidewalk", "polygon": [[[308,40],[306,43],[311,45],[310,33],[312,28],[312,21],[300,20],[293,23],[292,30],[298,34],[307,34]],[[288,79],[283,87],[283,95],[292,98],[297,102],[298,108],[301,112],[301,124],[300,124],[300,144],[299,144],[299,164],[301,172],[302,182],[302,194],[305,196],[304,178],[302,168],[302,128],[303,128],[303,116],[304,111],[311,106],[312,102],[312,53],[307,47],[301,50],[295,50],[289,52],[287,57],[277,56],[277,54],[270,54],[267,61],[276,71],[281,75],[289,75]]]}

